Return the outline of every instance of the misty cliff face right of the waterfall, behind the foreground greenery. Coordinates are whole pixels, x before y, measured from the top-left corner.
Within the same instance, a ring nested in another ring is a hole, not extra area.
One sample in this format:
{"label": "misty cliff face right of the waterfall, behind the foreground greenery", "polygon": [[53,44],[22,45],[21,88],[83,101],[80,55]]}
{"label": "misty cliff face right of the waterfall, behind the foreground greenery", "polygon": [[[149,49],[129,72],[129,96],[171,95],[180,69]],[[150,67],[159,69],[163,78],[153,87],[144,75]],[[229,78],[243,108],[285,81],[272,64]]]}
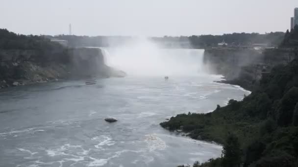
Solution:
{"label": "misty cliff face right of the waterfall, behind the foreground greenery", "polygon": [[293,48],[208,48],[203,62],[211,73],[222,74],[224,83],[252,90],[273,66],[288,64],[297,57],[298,50]]}

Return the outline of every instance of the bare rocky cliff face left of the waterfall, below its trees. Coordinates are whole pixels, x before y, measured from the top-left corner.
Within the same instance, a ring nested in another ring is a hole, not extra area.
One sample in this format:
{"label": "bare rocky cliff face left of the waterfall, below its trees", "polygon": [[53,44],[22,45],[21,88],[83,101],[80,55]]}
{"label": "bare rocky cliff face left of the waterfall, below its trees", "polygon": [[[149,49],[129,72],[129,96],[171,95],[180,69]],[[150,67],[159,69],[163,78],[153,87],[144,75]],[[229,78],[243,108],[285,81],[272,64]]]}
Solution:
{"label": "bare rocky cliff face left of the waterfall, below its trees", "polygon": [[63,79],[124,77],[104,62],[99,48],[63,51],[0,50],[0,88]]}

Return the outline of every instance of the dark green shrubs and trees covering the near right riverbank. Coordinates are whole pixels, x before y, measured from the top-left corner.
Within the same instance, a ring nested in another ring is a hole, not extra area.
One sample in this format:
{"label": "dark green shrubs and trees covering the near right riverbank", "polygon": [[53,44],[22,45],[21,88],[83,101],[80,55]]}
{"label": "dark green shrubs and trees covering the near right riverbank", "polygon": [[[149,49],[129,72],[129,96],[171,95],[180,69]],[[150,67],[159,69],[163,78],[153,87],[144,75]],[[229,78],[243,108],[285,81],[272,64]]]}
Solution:
{"label": "dark green shrubs and trees covering the near right riverbank", "polygon": [[207,114],[179,114],[160,125],[223,144],[221,158],[196,167],[297,167],[298,61],[274,67],[243,101],[230,100]]}

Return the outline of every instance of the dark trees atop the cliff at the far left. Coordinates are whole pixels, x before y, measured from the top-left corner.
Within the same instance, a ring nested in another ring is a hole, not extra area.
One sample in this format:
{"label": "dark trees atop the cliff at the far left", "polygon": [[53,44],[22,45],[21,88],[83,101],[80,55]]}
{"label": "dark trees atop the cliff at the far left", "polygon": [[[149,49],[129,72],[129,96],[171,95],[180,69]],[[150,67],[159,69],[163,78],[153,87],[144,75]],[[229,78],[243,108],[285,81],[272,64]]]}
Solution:
{"label": "dark trees atop the cliff at the far left", "polygon": [[0,49],[22,49],[22,50],[53,50],[61,49],[62,46],[50,39],[37,35],[19,35],[0,29]]}

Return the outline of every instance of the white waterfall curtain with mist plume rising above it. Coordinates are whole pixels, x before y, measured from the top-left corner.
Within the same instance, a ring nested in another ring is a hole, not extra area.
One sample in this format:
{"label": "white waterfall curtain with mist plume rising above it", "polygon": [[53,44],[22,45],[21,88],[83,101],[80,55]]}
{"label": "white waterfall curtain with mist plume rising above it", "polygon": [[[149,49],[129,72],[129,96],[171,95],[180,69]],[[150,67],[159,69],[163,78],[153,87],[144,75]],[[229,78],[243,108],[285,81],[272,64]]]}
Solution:
{"label": "white waterfall curtain with mist plume rising above it", "polygon": [[142,39],[102,48],[106,63],[134,76],[185,76],[203,73],[203,50],[162,49]]}

